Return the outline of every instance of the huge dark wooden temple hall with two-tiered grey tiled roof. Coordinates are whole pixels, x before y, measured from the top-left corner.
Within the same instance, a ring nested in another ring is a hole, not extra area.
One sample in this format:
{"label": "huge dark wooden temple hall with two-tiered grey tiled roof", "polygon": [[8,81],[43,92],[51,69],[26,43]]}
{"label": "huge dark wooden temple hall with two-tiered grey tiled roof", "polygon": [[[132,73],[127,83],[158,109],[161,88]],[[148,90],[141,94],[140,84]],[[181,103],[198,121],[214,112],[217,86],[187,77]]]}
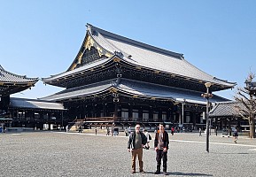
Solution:
{"label": "huge dark wooden temple hall with two-tiered grey tiled roof", "polygon": [[[43,78],[66,88],[43,100],[63,103],[71,120],[86,126],[159,122],[186,128],[204,127],[205,83],[211,92],[232,89],[191,65],[182,54],[115,35],[90,24],[77,56],[66,72]],[[228,101],[213,95],[211,102]]]}

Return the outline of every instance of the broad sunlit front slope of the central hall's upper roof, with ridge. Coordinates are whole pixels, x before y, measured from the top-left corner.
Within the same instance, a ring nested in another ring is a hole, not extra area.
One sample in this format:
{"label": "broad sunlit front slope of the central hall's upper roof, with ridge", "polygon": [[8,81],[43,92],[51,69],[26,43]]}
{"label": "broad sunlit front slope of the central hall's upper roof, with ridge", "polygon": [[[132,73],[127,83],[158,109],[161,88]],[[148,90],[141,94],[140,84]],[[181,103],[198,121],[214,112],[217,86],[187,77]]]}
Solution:
{"label": "broad sunlit front slope of the central hall's upper roof, with ridge", "polygon": [[[182,54],[168,50],[162,50],[151,45],[136,42],[126,37],[115,35],[105,30],[89,25],[89,32],[94,40],[105,50],[114,53],[121,52],[122,58],[128,63],[148,67],[166,73],[174,73],[192,79],[210,81],[221,84],[225,87],[234,87],[236,83],[222,81],[210,74],[199,70],[196,66],[191,65],[183,58]],[[128,56],[132,56],[128,58]]]}

